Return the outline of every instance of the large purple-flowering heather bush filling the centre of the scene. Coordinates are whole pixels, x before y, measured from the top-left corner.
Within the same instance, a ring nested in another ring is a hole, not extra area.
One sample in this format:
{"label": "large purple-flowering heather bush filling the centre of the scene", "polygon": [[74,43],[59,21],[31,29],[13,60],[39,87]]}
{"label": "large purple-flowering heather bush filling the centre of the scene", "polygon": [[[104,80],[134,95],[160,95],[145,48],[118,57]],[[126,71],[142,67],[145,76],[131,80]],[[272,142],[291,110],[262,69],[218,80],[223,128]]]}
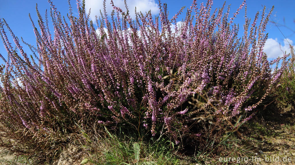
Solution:
{"label": "large purple-flowering heather bush filling the centre of the scene", "polygon": [[67,21],[50,2],[53,33],[47,13],[42,18],[37,10],[37,47],[24,42],[30,57],[6,21],[0,22],[8,53],[1,56],[0,131],[16,142],[2,143],[14,151],[44,155],[68,143],[78,125],[87,130],[97,123],[165,133],[176,144],[183,137],[200,141],[209,134],[203,122],[208,115],[230,129],[250,119],[287,64],[285,55],[282,67],[271,72],[280,59],[269,62],[263,53],[273,9],[266,15],[264,8],[260,22],[259,12],[252,22],[245,14],[240,39],[233,21],[245,1],[229,18],[225,3],[212,10],[212,0],[199,7],[195,0],[175,32],[171,25],[184,8],[168,19],[160,1],[155,18],[136,12],[132,19],[127,6],[123,11],[113,4],[110,15],[104,11],[96,20],[97,30],[84,1],[77,4],[78,17],[70,7]]}

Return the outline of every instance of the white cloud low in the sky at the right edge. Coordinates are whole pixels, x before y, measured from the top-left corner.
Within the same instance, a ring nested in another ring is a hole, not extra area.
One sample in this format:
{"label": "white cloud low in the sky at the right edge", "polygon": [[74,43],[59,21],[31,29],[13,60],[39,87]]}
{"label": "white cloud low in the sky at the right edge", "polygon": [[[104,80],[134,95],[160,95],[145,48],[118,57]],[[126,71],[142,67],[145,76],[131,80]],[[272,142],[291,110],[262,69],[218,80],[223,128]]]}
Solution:
{"label": "white cloud low in the sky at the right edge", "polygon": [[[280,43],[278,42],[278,39],[273,39],[269,38],[266,40],[265,46],[264,46],[264,52],[268,56],[268,58],[277,58],[277,57],[283,57],[283,54],[290,53],[290,46],[289,43],[293,46],[293,41],[290,40],[289,38],[284,39],[284,45],[281,44],[280,48]],[[283,50],[283,51],[282,51]]]}

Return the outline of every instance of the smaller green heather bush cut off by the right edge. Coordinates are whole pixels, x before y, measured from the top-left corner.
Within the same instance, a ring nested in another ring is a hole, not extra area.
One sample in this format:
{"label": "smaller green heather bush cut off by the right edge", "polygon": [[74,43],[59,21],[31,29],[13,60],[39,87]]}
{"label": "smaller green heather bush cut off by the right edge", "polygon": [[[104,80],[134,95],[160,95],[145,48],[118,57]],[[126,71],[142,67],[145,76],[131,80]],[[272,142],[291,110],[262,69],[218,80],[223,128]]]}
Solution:
{"label": "smaller green heather bush cut off by the right edge", "polygon": [[290,62],[283,71],[280,84],[276,90],[276,97],[280,102],[286,103],[295,108],[295,55],[293,46],[290,45],[290,48]]}

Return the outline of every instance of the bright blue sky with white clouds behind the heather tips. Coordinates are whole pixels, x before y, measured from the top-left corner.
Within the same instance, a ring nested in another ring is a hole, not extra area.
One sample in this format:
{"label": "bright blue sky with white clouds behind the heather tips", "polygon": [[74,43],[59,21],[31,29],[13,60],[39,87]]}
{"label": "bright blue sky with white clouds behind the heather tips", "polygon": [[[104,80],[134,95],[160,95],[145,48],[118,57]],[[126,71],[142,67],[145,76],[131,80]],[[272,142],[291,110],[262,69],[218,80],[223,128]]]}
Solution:
{"label": "bright blue sky with white clouds behind the heather tips", "polygon": [[[57,9],[61,12],[61,14],[66,15],[68,12],[68,2],[67,0],[52,0],[53,4],[57,7]],[[110,0],[107,0],[110,1]],[[123,7],[123,0],[114,0],[115,5],[118,7]],[[191,5],[192,0],[162,0],[162,3],[167,3],[168,11],[170,16],[172,17],[182,6],[189,7]],[[197,3],[206,2],[204,0],[197,0]],[[236,9],[242,4],[243,0],[227,0],[226,4],[231,4],[231,12],[235,13]],[[27,43],[35,44],[35,35],[33,32],[33,28],[29,19],[28,14],[30,13],[33,21],[37,22],[37,16],[35,11],[36,3],[38,4],[39,11],[42,15],[45,14],[46,9],[50,9],[50,5],[47,0],[1,0],[0,5],[0,17],[4,18],[9,24],[10,28],[14,32],[16,36],[19,38],[24,38],[24,41]],[[148,11],[151,9],[152,13],[156,15],[158,13],[158,0],[127,0],[128,5],[130,6],[130,10],[137,7],[137,11]],[[214,0],[213,8],[221,7],[224,1]],[[271,16],[273,21],[278,24],[285,24],[286,27],[279,27],[283,34],[288,38],[289,43],[293,45],[293,41],[295,41],[295,15],[293,14],[293,8],[295,6],[295,1],[287,1],[287,0],[248,0],[247,3],[247,15],[250,18],[255,16],[257,11],[261,11],[263,6],[267,7],[267,11],[271,9],[274,5],[275,9]],[[71,1],[72,7],[74,11],[76,10],[76,1]],[[108,4],[108,3],[107,3]],[[102,8],[102,0],[86,0],[86,8],[91,8],[91,18],[94,18],[95,15],[99,14],[99,9]],[[107,11],[111,11],[112,8],[109,7]],[[133,11],[133,10],[132,10]],[[178,21],[181,21],[180,16]],[[231,17],[231,16],[230,16]],[[235,23],[240,24],[240,31],[242,31],[241,27],[244,23],[244,10],[240,12],[240,14],[235,19]],[[273,24],[269,23],[266,29],[266,33],[269,34],[269,39],[265,46],[265,52],[268,54],[269,59],[276,58],[277,56],[281,56],[283,53],[279,48],[279,44],[281,43],[281,48],[283,50],[289,51],[287,40],[284,39],[281,32],[278,28]],[[12,41],[11,41],[12,42]],[[24,45],[22,45],[24,46]],[[28,48],[24,46],[24,50],[30,54]],[[0,44],[0,53],[6,57],[6,50],[1,42]],[[4,62],[0,59],[0,64]]]}

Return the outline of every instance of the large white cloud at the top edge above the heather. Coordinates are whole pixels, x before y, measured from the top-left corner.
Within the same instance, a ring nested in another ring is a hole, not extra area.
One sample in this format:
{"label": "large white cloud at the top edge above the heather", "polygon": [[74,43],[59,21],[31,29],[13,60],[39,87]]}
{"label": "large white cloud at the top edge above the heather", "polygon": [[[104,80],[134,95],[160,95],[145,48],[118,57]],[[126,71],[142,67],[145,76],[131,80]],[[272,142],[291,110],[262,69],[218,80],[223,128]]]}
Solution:
{"label": "large white cloud at the top edge above the heather", "polygon": [[[121,8],[122,11],[126,11],[124,0],[113,0],[113,2],[116,7]],[[110,3],[110,0],[106,0],[106,12],[109,16],[113,10]],[[127,0],[127,5],[132,18],[135,17],[135,7],[137,12],[141,11],[145,13],[151,10],[151,13],[154,15],[159,13],[159,7],[155,0]],[[103,0],[86,0],[85,8],[86,11],[91,9],[90,17],[92,20],[95,20],[95,16],[100,16],[100,10],[102,13],[104,12]]]}

